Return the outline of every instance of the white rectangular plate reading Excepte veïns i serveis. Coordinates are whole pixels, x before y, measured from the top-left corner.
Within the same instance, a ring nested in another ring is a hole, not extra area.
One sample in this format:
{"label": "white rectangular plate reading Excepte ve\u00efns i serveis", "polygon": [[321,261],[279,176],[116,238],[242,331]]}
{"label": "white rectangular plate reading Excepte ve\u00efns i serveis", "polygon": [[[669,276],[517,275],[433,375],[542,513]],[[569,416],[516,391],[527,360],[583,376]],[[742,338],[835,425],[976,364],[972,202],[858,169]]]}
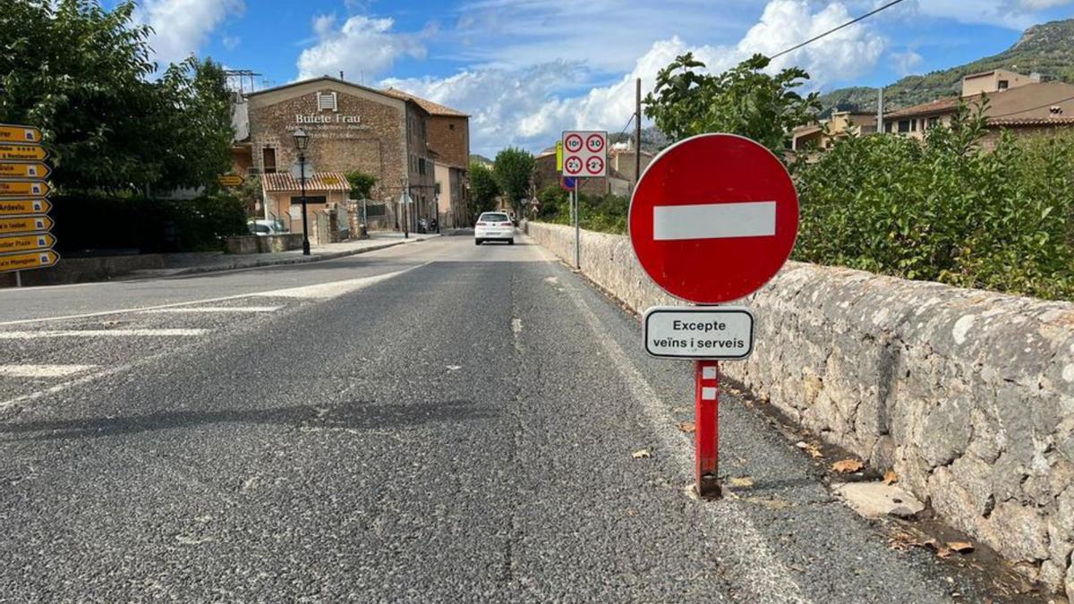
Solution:
{"label": "white rectangular plate reading Excepte ve\u00efns i serveis", "polygon": [[645,351],[662,359],[744,360],[753,313],[741,306],[656,306],[645,312]]}

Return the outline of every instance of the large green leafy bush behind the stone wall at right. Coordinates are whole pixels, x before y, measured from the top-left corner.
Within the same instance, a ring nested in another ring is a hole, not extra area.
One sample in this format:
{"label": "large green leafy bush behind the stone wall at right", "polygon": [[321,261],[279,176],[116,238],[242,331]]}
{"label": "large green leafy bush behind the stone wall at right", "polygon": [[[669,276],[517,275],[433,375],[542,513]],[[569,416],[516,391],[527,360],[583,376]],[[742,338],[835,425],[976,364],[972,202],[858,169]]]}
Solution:
{"label": "large green leafy bush behind the stone wall at right", "polygon": [[795,258],[911,279],[1074,296],[1074,138],[979,143],[981,107],[924,144],[848,138],[797,168]]}

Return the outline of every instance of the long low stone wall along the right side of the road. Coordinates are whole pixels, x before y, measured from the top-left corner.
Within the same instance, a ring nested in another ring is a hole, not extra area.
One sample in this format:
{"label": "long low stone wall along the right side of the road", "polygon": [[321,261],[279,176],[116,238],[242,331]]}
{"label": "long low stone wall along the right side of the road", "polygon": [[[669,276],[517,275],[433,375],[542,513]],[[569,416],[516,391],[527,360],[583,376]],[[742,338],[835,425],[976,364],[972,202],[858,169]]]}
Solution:
{"label": "long low stone wall along the right side of the road", "polygon": [[[571,229],[527,232],[572,261]],[[672,302],[626,238],[582,234],[591,279],[638,312]],[[1074,304],[797,262],[745,304],[756,351],[731,379],[1074,594]]]}

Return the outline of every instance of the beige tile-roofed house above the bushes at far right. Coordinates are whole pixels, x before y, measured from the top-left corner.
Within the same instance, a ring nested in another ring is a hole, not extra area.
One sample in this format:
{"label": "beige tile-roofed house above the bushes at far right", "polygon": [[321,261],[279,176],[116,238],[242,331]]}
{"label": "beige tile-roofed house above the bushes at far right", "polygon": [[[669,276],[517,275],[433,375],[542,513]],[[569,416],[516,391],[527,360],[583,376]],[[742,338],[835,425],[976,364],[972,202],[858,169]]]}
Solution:
{"label": "beige tile-roofed house above the bushes at far right", "polygon": [[1074,86],[1041,82],[1039,76],[995,70],[962,78],[962,96],[923,103],[884,115],[884,131],[924,139],[930,128],[949,126],[959,102],[973,105],[987,97],[985,117],[996,138],[1011,130],[1018,135],[1069,128],[1074,116]]}

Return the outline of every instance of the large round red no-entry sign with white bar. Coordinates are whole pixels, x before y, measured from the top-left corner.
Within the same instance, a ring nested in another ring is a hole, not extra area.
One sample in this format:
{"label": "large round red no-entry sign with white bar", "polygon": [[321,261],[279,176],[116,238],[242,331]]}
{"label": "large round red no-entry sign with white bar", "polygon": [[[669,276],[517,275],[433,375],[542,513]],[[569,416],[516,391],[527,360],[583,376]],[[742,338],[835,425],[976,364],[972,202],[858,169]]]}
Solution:
{"label": "large round red no-entry sign with white bar", "polygon": [[798,238],[798,193],[764,146],[701,134],[664,149],[630,199],[630,243],[665,291],[720,304],[758,290]]}

